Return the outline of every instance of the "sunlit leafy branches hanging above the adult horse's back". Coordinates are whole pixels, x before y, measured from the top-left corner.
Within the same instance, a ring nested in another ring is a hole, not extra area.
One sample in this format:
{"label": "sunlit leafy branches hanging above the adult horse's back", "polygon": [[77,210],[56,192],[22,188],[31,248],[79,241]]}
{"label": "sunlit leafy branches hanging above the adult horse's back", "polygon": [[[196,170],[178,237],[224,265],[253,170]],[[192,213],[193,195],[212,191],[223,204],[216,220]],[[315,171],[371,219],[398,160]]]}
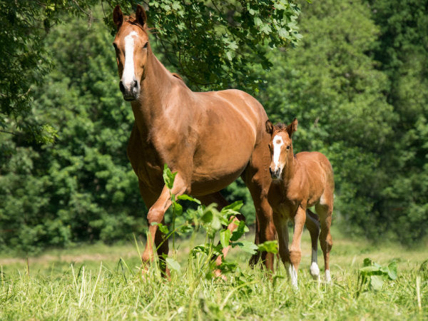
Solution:
{"label": "sunlit leafy branches hanging above the adult horse's back", "polygon": [[[158,49],[192,88],[255,91],[254,66],[271,66],[265,45],[273,49],[300,38],[300,11],[292,0],[142,2]],[[128,13],[135,9],[133,1],[121,5]],[[106,22],[111,24],[110,16]]]}

